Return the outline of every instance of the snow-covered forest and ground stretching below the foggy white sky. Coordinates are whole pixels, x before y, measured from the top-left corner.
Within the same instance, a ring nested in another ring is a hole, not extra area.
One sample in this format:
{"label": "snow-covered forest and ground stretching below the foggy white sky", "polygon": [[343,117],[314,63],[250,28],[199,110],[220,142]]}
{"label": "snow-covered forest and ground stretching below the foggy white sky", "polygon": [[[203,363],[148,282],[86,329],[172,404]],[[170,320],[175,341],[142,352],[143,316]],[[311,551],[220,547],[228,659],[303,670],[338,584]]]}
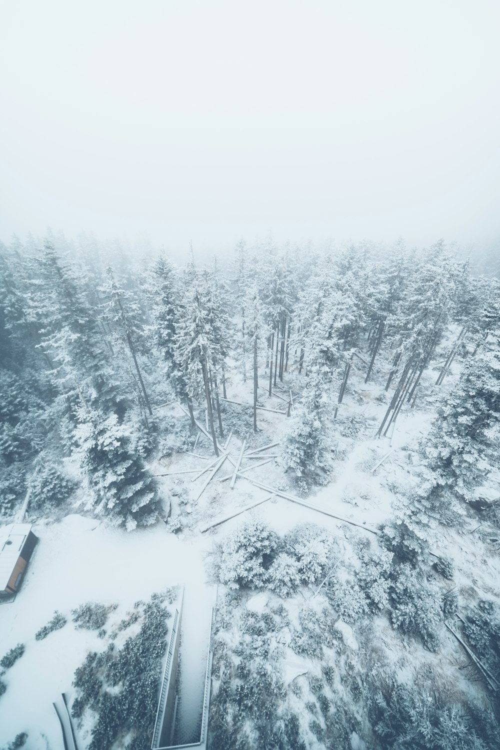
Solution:
{"label": "snow-covered forest and ground stretching below the foggy white sky", "polygon": [[495,263],[1,245],[0,746],[150,748],[184,586],[208,748],[498,748]]}

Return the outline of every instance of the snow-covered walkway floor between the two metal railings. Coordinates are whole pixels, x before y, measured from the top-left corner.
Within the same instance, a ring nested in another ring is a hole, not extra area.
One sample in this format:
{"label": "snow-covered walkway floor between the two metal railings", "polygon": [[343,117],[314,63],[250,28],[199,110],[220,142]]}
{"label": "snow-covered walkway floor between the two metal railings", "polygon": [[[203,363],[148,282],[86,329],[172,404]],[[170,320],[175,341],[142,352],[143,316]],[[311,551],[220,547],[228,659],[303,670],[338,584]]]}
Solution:
{"label": "snow-covered walkway floor between the two metal railings", "polygon": [[215,589],[184,589],[181,620],[180,701],[174,744],[197,742],[202,721],[203,691]]}

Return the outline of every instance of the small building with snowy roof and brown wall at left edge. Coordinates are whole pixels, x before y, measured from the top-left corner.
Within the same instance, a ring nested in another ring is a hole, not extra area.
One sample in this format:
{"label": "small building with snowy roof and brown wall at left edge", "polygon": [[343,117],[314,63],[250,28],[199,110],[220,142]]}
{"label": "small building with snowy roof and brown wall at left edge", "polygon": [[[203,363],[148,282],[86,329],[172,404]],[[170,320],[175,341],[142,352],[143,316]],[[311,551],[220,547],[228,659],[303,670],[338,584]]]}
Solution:
{"label": "small building with snowy roof and brown wall at left edge", "polygon": [[0,596],[18,591],[37,541],[31,523],[10,523],[0,528]]}

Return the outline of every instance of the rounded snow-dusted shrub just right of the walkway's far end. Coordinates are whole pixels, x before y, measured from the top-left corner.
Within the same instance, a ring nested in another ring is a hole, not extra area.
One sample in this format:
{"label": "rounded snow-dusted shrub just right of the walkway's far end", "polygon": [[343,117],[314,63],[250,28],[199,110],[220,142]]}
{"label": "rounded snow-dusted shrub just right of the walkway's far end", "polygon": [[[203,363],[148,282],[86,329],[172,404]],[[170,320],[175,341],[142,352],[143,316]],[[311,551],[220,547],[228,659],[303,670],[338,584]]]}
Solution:
{"label": "rounded snow-dusted shrub just right of the walkway's far end", "polygon": [[220,545],[220,582],[230,589],[264,586],[277,552],[278,537],[269,526],[259,520],[245,523]]}

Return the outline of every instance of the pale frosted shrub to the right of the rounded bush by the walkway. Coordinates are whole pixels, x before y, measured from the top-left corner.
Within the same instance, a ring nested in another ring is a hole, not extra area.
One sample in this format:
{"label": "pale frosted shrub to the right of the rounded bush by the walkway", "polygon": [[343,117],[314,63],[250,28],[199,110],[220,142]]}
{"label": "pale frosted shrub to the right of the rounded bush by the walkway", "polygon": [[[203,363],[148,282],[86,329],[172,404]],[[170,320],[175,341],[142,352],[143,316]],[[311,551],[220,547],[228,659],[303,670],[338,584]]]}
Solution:
{"label": "pale frosted shrub to the right of the rounded bush by the walkway", "polygon": [[316,583],[325,577],[333,547],[333,540],[325,529],[315,523],[305,523],[286,534],[284,541],[297,556],[302,583]]}

